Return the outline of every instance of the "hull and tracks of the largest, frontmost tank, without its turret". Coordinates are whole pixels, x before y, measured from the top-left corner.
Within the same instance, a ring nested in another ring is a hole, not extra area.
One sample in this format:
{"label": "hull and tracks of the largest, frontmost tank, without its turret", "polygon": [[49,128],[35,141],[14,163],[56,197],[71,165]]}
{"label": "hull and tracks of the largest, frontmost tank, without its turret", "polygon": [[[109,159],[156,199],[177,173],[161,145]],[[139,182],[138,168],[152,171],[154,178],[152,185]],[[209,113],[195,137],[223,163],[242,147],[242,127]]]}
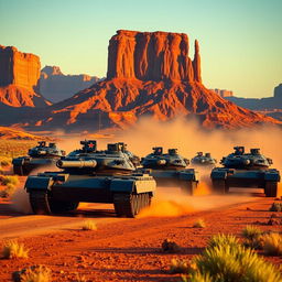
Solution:
{"label": "hull and tracks of the largest, frontmost tank, without its turret", "polygon": [[[134,217],[150,204],[155,186],[152,176],[141,174],[94,176],[42,173],[29,176],[25,183],[35,214],[56,213],[52,209],[53,203],[59,209],[59,206],[66,206],[64,203],[76,206],[86,202],[113,204],[117,215],[126,217]],[[68,210],[61,208],[61,212]]]}

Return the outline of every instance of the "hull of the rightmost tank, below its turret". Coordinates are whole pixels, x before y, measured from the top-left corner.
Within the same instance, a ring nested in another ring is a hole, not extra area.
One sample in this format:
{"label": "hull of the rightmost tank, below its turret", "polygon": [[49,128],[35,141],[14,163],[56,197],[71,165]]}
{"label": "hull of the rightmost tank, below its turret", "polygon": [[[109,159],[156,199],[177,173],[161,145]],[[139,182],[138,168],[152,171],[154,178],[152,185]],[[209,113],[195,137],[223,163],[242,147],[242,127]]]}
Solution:
{"label": "hull of the rightmost tank, below its turret", "polygon": [[258,187],[263,188],[268,197],[276,196],[276,186],[280,173],[275,169],[268,170],[236,170],[215,167],[210,177],[214,191],[225,194],[229,187]]}

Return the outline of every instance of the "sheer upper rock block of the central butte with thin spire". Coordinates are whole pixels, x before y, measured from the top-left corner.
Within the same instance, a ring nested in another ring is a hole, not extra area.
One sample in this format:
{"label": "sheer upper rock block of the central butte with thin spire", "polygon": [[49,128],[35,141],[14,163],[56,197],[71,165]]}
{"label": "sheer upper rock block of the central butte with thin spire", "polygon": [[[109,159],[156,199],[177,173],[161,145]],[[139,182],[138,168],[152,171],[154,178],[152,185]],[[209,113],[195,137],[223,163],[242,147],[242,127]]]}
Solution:
{"label": "sheer upper rock block of the central butte with thin spire", "polygon": [[119,30],[109,42],[107,78],[202,82],[198,42],[194,61],[184,33]]}

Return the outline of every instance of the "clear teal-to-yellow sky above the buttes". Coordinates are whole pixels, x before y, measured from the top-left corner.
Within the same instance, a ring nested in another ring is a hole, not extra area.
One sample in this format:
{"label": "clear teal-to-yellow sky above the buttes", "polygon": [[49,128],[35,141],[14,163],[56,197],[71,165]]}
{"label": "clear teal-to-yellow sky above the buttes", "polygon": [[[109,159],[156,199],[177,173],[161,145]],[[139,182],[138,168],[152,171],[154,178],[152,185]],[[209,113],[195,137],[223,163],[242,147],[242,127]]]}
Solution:
{"label": "clear teal-to-yellow sky above the buttes", "polygon": [[260,98],[282,83],[281,13],[282,0],[0,0],[0,45],[104,77],[117,30],[182,32],[206,87]]}

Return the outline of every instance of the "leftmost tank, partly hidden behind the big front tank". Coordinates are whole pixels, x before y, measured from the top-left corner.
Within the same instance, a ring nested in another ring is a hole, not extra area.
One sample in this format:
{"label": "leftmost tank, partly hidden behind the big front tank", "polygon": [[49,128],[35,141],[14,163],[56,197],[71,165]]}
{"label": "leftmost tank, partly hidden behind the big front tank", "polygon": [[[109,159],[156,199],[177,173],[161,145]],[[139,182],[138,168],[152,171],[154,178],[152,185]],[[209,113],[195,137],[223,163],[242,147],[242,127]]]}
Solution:
{"label": "leftmost tank, partly hidden behind the big front tank", "polygon": [[28,156],[12,160],[13,172],[18,175],[29,175],[35,169],[55,165],[64,155],[65,151],[58,149],[56,143],[40,141],[36,147],[29,150]]}

